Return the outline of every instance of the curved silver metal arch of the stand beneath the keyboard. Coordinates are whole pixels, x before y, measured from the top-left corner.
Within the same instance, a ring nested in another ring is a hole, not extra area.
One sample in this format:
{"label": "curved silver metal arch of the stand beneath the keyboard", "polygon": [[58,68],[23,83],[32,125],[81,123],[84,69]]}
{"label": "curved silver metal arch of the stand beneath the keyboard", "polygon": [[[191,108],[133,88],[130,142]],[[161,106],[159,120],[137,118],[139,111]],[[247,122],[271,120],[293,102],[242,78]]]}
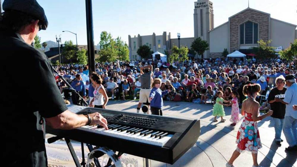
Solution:
{"label": "curved silver metal arch of the stand beneath the keyboard", "polygon": [[119,157],[109,148],[107,147],[100,147],[98,149],[94,149],[93,151],[91,151],[88,155],[88,161],[87,161],[87,167],[89,167],[91,160],[94,158],[93,154],[95,152],[103,152],[106,155],[108,155],[108,157],[112,160],[113,162],[113,166],[115,167],[122,167],[122,163],[119,160]]}

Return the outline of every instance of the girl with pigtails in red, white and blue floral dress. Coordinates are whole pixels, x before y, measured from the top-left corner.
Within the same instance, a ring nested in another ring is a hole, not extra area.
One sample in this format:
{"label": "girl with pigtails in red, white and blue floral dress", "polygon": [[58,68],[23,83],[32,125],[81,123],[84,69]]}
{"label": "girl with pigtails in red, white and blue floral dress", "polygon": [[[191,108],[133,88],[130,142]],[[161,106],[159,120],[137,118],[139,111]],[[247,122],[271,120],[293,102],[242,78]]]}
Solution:
{"label": "girl with pigtails in red, white and blue floral dress", "polygon": [[258,149],[262,147],[262,144],[260,141],[257,121],[271,116],[273,113],[273,111],[270,110],[266,114],[259,116],[259,103],[255,100],[255,98],[257,97],[257,93],[259,93],[260,90],[261,86],[259,84],[248,84],[243,88],[243,94],[248,96],[248,98],[243,101],[241,107],[241,115],[244,115],[244,120],[242,121],[242,124],[237,132],[237,148],[233,152],[230,160],[226,163],[227,167],[233,167],[234,160],[236,160],[236,158],[243,151],[252,153],[252,167],[259,166],[257,162],[257,153]]}

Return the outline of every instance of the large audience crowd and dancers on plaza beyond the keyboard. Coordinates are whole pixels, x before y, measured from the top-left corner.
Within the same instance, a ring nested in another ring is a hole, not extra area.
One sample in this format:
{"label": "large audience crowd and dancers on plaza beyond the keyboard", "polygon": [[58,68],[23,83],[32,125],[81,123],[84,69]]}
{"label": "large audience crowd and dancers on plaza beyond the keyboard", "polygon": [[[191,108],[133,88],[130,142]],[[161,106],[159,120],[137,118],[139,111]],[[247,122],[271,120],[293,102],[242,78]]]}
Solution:
{"label": "large audience crowd and dancers on plaza beyond the keyboard", "polygon": [[[151,72],[144,73],[143,69],[146,67],[150,67]],[[70,78],[75,75],[75,80],[81,80],[77,76],[88,72],[88,66],[78,65],[66,65],[57,69],[64,77]],[[105,108],[108,93],[111,93],[112,100],[125,100],[127,95],[133,96],[135,100],[140,92],[137,112],[140,111],[142,103],[148,103],[151,105],[152,114],[162,115],[163,100],[211,103],[214,104],[213,121],[217,122],[217,117],[221,117],[221,122],[225,122],[224,106],[232,106],[230,119],[232,126],[240,121],[240,113],[244,116],[244,126],[240,126],[236,141],[238,148],[226,164],[226,166],[232,166],[233,161],[243,150],[252,152],[255,158],[257,149],[261,148],[257,121],[267,116],[274,119],[275,143],[281,146],[283,141],[281,132],[283,131],[289,143],[286,150],[297,150],[297,112],[293,106],[297,104],[297,97],[295,98],[296,95],[293,93],[285,95],[288,90],[290,92],[297,90],[296,73],[293,62],[282,61],[279,58],[266,61],[256,61],[255,58],[245,60],[210,58],[208,60],[176,61],[171,64],[161,60],[116,61],[97,63],[95,72],[89,75],[95,75],[101,78],[101,81],[94,82],[94,90],[91,86],[85,87],[88,87],[86,92],[89,91],[91,99],[96,91],[102,88],[103,96],[100,98],[100,105],[97,105],[98,103],[94,105],[92,104],[94,100],[90,100],[90,106],[98,108]],[[143,77],[142,80],[146,78],[145,82],[141,83],[141,77]],[[93,82],[92,79],[91,81]],[[76,86],[77,81],[74,83],[72,85]],[[80,88],[83,87],[79,86],[78,92],[84,97],[85,91]],[[250,107],[251,104],[258,105],[254,105],[256,106],[254,108]],[[265,109],[268,112],[259,116],[259,109]],[[147,109],[143,112],[146,113]],[[247,123],[251,126],[245,126]],[[255,130],[253,138],[245,135],[251,128]],[[247,146],[250,143],[254,145]],[[254,166],[257,166],[256,159],[254,159]]]}

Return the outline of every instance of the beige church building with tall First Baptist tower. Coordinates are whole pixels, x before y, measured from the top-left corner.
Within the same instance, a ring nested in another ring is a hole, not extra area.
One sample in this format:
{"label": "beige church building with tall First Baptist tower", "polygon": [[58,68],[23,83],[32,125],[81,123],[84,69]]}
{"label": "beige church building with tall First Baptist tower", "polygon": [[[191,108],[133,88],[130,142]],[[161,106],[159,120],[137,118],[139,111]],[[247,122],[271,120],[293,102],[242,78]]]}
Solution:
{"label": "beige church building with tall First Baptist tower", "polygon": [[[181,38],[180,45],[191,48],[192,42],[200,37],[209,44],[209,50],[204,58],[221,56],[225,48],[229,53],[239,50],[248,53],[251,47],[258,47],[257,41],[272,40],[272,47],[285,49],[297,38],[296,25],[270,17],[269,13],[247,8],[228,18],[228,21],[214,28],[213,3],[208,0],[198,0],[194,3],[194,37]],[[178,39],[171,38],[165,31],[162,35],[134,36],[129,35],[130,59],[140,59],[137,55],[139,46],[147,45],[153,52],[164,53]],[[197,55],[196,55],[197,56]]]}

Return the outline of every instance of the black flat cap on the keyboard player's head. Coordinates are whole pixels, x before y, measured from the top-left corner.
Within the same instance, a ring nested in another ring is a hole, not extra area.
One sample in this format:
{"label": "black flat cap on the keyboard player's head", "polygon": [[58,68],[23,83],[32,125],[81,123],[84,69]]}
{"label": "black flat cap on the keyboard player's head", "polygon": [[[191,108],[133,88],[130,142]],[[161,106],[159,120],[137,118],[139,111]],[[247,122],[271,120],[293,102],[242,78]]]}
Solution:
{"label": "black flat cap on the keyboard player's head", "polygon": [[43,8],[36,0],[5,0],[3,2],[4,11],[16,10],[24,12],[40,21],[41,29],[46,30],[48,19],[45,16]]}

